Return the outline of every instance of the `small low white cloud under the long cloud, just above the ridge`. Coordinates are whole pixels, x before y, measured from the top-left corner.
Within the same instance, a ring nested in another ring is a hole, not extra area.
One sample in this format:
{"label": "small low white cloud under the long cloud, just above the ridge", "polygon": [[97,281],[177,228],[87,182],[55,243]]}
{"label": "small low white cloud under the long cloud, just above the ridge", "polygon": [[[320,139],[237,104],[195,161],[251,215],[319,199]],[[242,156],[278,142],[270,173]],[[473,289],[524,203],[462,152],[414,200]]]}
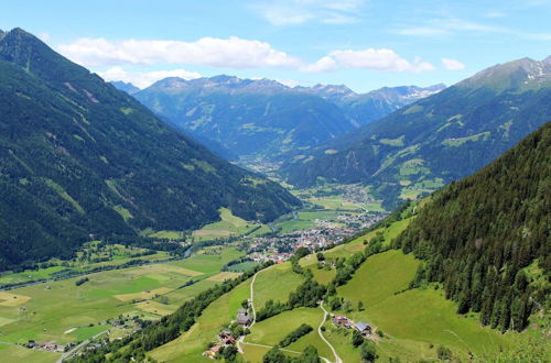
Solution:
{"label": "small low white cloud under the long cloud, just above the ridge", "polygon": [[201,77],[201,74],[196,72],[188,72],[185,69],[127,72],[121,67],[112,67],[107,69],[106,72],[98,72],[98,75],[108,81],[122,80],[126,82],[131,82],[132,85],[142,89],[166,77],[179,77],[183,79],[194,79]]}

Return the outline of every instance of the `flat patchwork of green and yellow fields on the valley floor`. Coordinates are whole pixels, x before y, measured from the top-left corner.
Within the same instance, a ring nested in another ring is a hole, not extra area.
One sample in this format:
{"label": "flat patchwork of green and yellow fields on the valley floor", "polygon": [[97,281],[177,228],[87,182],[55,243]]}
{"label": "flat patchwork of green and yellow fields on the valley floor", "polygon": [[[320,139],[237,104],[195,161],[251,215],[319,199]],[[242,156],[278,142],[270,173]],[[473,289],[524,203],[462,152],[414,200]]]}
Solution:
{"label": "flat patchwork of green and yellow fields on the valley floor", "polygon": [[[240,255],[233,248],[208,248],[186,260],[89,274],[89,280],[80,286],[75,286],[80,278],[76,277],[1,293],[0,341],[64,344],[109,329],[98,322],[119,315],[159,319],[220,278],[236,276],[219,272]],[[192,279],[198,282],[183,287]]]}

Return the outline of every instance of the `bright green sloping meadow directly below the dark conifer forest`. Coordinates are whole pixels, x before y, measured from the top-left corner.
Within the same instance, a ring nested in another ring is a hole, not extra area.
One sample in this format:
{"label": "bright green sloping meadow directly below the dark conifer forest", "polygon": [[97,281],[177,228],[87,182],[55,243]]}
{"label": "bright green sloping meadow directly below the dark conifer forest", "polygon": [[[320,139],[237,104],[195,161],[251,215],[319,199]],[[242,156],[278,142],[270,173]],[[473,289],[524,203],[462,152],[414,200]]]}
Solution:
{"label": "bright green sloping meadow directly below the dark conifer forest", "polygon": [[358,268],[348,284],[337,288],[338,295],[354,306],[358,300],[365,305],[364,311],[347,316],[369,322],[391,337],[379,344],[381,356],[410,352],[417,359],[435,359],[435,350],[429,350],[430,344],[443,344],[452,349],[454,355],[466,359],[467,352],[482,355],[515,344],[514,333],[500,334],[482,328],[472,315],[456,315],[455,304],[446,300],[442,290],[400,293],[413,279],[418,263],[400,251],[377,254]]}

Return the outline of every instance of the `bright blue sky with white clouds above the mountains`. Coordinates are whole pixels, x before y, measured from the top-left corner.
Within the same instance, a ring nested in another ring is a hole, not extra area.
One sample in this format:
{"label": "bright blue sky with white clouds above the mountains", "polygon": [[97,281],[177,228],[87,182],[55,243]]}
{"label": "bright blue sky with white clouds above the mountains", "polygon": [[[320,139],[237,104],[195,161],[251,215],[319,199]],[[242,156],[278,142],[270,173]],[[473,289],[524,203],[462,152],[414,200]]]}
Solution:
{"label": "bright blue sky with white clouds above the mountains", "polygon": [[289,85],[452,85],[551,54],[551,0],[0,0],[23,28],[108,80],[218,74]]}

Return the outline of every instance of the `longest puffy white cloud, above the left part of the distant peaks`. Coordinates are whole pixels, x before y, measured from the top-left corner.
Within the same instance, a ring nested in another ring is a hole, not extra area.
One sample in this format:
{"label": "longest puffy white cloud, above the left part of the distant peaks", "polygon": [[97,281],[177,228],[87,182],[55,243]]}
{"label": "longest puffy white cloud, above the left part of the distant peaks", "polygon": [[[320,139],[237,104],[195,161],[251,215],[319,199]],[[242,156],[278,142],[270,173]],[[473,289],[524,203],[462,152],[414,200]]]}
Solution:
{"label": "longest puffy white cloud, above the left part of the distant peaks", "polygon": [[299,59],[271,47],[269,43],[202,37],[195,42],[138,41],[110,42],[105,38],[78,38],[57,47],[60,53],[84,66],[125,64],[193,64],[222,68],[291,67]]}

